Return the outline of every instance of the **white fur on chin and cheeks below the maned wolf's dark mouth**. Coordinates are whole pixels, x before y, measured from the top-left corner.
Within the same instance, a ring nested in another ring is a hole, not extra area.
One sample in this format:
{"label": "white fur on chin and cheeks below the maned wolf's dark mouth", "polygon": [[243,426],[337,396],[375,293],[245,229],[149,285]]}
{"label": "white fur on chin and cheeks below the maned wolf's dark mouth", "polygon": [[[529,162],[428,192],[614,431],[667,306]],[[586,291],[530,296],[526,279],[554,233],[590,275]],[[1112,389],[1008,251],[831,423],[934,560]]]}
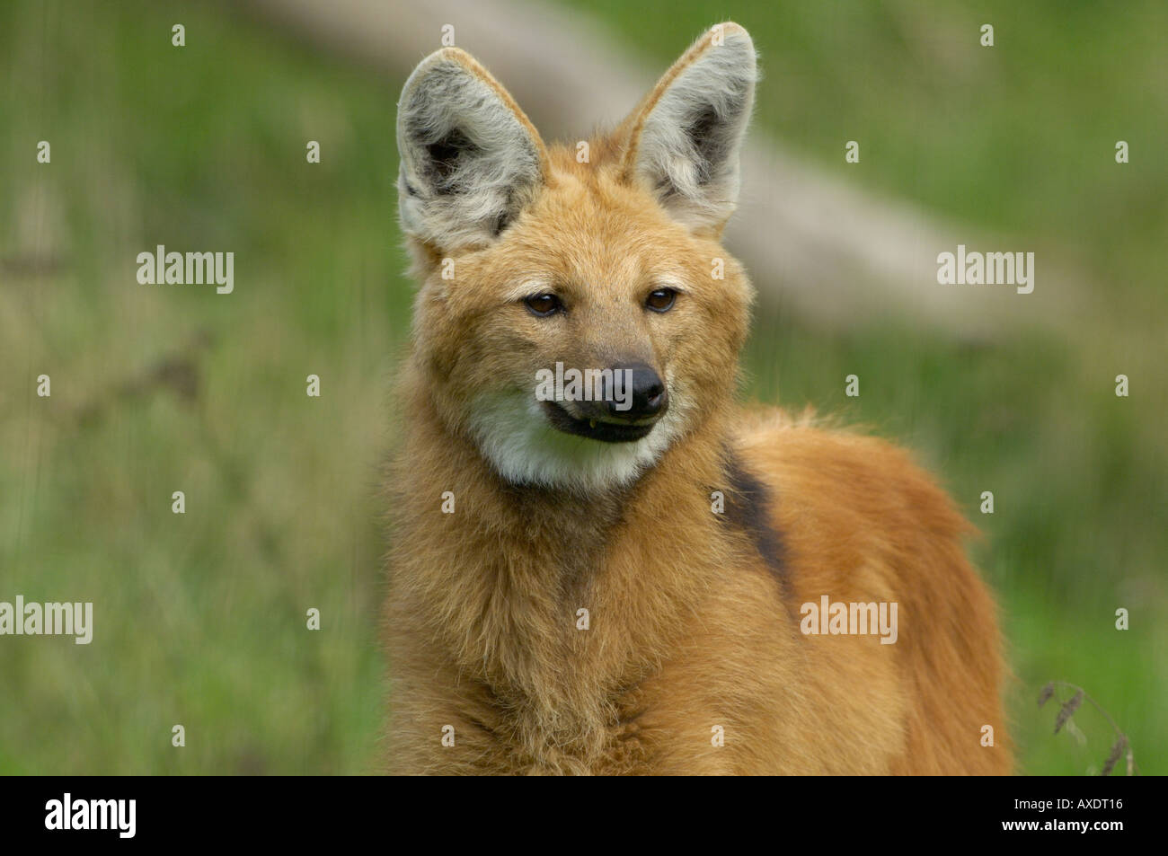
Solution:
{"label": "white fur on chin and cheeks below the maned wolf's dark mouth", "polygon": [[677,437],[684,406],[669,390],[669,410],[646,437],[603,443],[557,431],[530,392],[485,392],[471,430],[495,471],[516,485],[599,493],[637,480]]}

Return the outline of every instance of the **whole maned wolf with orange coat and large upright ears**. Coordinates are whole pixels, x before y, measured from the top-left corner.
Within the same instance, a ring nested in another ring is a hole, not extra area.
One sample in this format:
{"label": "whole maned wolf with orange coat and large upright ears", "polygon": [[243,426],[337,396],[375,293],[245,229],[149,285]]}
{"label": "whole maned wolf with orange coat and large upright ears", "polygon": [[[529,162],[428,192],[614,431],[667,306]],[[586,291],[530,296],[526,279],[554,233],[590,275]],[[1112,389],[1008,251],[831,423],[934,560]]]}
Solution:
{"label": "whole maned wolf with orange coat and large upright ears", "polygon": [[[405,83],[391,772],[1010,770],[968,524],[884,441],[734,403],[755,81],[718,25],[586,149],[456,48]],[[611,371],[540,394],[570,369]]]}

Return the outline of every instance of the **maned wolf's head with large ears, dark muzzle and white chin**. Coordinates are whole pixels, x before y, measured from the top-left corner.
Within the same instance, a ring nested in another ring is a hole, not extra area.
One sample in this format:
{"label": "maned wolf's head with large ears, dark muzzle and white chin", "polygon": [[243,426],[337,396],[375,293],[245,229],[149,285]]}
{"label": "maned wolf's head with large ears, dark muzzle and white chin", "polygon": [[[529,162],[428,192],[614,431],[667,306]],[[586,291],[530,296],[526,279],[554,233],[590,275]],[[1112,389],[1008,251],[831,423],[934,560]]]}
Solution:
{"label": "maned wolf's head with large ears, dark muzzle and white chin", "polygon": [[457,48],[410,75],[412,364],[503,479],[628,485],[730,401],[752,290],[719,238],[755,81],[750,36],[718,25],[612,133],[569,147]]}

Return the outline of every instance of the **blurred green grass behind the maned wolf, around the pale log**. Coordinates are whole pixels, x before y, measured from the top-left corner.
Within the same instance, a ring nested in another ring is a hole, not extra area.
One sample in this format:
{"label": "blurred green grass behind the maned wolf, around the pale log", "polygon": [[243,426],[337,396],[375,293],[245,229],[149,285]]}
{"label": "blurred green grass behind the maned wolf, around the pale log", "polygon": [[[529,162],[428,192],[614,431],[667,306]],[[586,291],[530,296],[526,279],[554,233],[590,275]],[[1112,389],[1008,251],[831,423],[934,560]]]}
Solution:
{"label": "blurred green grass behind the maned wolf, around the pale log", "polygon": [[[1166,772],[1162,5],[589,8],[662,68],[738,20],[763,53],[762,127],[829,170],[861,139],[849,180],[1057,246],[1106,287],[1073,334],[978,346],[896,323],[815,329],[763,306],[746,394],[912,446],[982,529],[1020,772],[1082,774],[1106,754],[1090,712],[1086,745],[1051,733],[1034,701],[1054,678],[1107,709],[1142,772]],[[992,57],[966,46],[982,19]],[[186,48],[171,47],[175,22]],[[370,770],[377,468],[411,293],[401,81],[216,5],[144,0],[5,4],[0,56],[0,599],[92,600],[96,624],[90,646],[0,642],[0,772]],[[34,161],[41,139],[50,166]],[[235,251],[235,293],[138,285],[134,257],[159,243]],[[172,355],[197,373],[193,394],[127,390]],[[1128,399],[1112,394],[1121,371]],[[843,396],[850,373],[858,399]],[[986,489],[994,515],[978,514]]]}

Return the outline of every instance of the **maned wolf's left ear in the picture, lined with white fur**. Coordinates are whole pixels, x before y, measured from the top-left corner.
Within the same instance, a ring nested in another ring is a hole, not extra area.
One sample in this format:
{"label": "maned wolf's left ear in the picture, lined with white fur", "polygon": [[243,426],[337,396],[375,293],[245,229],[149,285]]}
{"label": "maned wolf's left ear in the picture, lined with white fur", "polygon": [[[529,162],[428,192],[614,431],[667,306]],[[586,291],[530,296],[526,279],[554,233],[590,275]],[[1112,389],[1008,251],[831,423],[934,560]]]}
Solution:
{"label": "maned wolf's left ear in the picture, lined with white fur", "polygon": [[413,70],[397,103],[402,228],[432,249],[493,241],[543,181],[547,149],[510,95],[458,48]]}

